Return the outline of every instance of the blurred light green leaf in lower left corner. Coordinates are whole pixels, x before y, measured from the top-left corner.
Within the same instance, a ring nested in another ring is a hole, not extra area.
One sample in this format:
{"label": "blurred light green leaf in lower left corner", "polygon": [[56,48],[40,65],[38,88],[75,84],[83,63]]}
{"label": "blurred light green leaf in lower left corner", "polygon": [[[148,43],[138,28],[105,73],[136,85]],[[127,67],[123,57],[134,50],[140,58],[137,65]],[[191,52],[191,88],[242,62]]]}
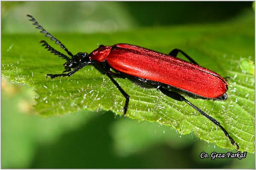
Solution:
{"label": "blurred light green leaf in lower left corner", "polygon": [[[51,116],[30,114],[33,96],[32,88],[10,83],[1,79],[1,168],[28,168],[41,145],[52,144],[63,133],[74,130],[95,119],[97,114],[90,111]],[[7,95],[6,95],[7,94]],[[15,156],[15,159],[14,159]],[[56,161],[56,160],[55,160]],[[71,161],[72,162],[72,161]]]}

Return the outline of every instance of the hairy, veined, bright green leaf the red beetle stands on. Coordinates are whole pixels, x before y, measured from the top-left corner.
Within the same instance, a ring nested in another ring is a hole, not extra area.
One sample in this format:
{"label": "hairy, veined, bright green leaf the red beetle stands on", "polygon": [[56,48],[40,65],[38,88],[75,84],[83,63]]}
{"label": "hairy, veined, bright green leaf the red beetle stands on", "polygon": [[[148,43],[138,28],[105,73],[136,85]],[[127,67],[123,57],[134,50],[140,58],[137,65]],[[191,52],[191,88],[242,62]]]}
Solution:
{"label": "hairy, veined, bright green leaf the red beetle stands on", "polygon": [[[29,21],[26,24],[31,26]],[[239,68],[240,57],[254,59],[253,14],[214,25],[143,28],[110,34],[54,35],[73,53],[90,53],[98,44],[121,42],[166,54],[173,48],[180,48],[200,65],[223,77],[231,77],[228,79],[229,97],[225,101],[186,99],[217,119],[239,144],[241,151],[254,152],[254,76],[244,74]],[[47,79],[46,74],[64,71],[62,64],[65,61],[41,48],[37,43],[39,40],[46,38],[40,33],[2,35],[2,74],[36,91],[36,112],[52,116],[100,109],[123,114],[125,98],[108,77],[92,66],[81,69],[72,77]],[[53,45],[54,42],[49,44],[59,49]],[[235,148],[220,128],[189,105],[175,101],[156,89],[141,88],[128,79],[116,81],[131,96],[127,117],[159,122],[182,134],[193,132],[200,139],[215,142],[220,147]]]}

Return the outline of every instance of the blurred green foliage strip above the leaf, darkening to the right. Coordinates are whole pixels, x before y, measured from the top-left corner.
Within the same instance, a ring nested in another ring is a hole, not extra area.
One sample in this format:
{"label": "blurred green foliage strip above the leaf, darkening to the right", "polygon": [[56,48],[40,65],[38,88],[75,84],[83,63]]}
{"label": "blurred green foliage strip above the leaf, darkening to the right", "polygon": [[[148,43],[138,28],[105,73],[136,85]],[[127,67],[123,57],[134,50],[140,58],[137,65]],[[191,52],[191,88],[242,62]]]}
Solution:
{"label": "blurred green foliage strip above the leaf, darkening to the right", "polygon": [[[115,32],[141,27],[220,23],[251,9],[251,2],[1,2],[2,31],[33,32],[26,14],[51,33]],[[19,5],[19,7],[17,7]],[[40,9],[40,10],[39,10]]]}

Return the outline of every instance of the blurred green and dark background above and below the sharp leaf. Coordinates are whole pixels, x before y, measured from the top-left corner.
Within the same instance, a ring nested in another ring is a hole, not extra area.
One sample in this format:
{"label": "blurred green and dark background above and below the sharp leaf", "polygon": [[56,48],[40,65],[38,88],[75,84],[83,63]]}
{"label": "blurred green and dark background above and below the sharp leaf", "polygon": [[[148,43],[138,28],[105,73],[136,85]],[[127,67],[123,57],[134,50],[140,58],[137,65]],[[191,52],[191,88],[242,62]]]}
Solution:
{"label": "blurred green and dark background above and below the sharp leaf", "polygon": [[[2,34],[35,34],[26,14],[32,14],[52,34],[225,23],[244,12],[254,15],[252,2],[2,1],[1,12]],[[201,151],[230,150],[193,134],[180,136],[170,127],[138,123],[112,112],[81,111],[42,118],[31,111],[36,95],[31,88],[6,78],[1,87],[1,168],[255,167],[255,155],[249,153],[242,160],[200,159]]]}

